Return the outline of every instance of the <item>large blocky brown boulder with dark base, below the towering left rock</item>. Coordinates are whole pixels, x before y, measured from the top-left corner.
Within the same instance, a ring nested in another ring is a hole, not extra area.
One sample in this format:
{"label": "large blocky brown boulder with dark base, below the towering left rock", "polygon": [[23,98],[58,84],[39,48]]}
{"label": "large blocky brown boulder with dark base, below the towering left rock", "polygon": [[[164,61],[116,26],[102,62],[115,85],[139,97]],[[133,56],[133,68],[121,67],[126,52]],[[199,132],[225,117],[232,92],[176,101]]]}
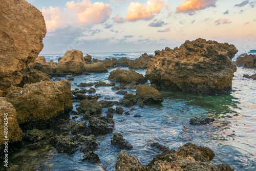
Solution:
{"label": "large blocky brown boulder with dark base, below the towering left rock", "polygon": [[44,129],[57,117],[73,109],[71,83],[41,81],[26,84],[24,88],[12,87],[6,100],[17,111],[17,121],[23,130]]}

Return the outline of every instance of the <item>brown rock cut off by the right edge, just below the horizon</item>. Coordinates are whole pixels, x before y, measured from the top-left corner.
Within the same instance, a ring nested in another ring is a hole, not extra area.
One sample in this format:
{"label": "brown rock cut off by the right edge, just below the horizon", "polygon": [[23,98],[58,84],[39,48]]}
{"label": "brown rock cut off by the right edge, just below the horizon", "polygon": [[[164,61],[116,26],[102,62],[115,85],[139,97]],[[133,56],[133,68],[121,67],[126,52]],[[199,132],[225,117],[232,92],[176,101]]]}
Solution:
{"label": "brown rock cut off by the right edge, just below the horizon", "polygon": [[241,54],[236,61],[237,66],[244,66],[244,67],[256,67],[256,55],[247,53]]}

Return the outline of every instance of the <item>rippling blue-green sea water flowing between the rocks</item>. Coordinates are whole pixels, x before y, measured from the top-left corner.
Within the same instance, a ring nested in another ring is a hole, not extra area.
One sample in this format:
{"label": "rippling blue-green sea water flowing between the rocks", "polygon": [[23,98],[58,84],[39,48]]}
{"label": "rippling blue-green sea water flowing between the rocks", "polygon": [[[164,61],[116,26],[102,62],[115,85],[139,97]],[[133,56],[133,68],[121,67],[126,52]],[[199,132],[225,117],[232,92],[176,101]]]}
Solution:
{"label": "rippling blue-green sea water flowing between the rocks", "polygon": [[[245,52],[248,51],[239,51],[236,57]],[[143,53],[91,53],[90,55],[98,59],[106,57],[135,59]],[[45,56],[47,61],[57,61],[62,55],[42,56]],[[236,60],[236,57],[233,60]],[[76,85],[80,82],[102,80],[109,83],[108,76],[113,70],[115,69],[110,69],[108,73],[75,76],[71,81],[71,89],[78,88]],[[146,70],[136,70],[136,72],[145,74]],[[126,152],[138,158],[142,164],[147,164],[154,156],[161,153],[150,146],[152,142],[173,149],[192,142],[207,146],[214,151],[216,156],[211,161],[213,164],[228,163],[235,170],[256,170],[256,80],[243,78],[243,74],[254,73],[256,69],[238,67],[237,72],[234,73],[232,90],[226,95],[160,91],[164,97],[162,104],[144,106],[143,109],[137,105],[123,107],[124,111],[133,109],[131,115],[114,114],[114,133],[121,133],[134,146]],[[102,96],[99,100],[110,98],[117,101],[123,97],[116,94],[116,90],[111,90],[111,87],[95,89],[95,94]],[[136,90],[127,91],[135,94]],[[73,110],[76,110],[77,104],[79,103],[73,103]],[[106,115],[106,110],[103,108],[102,115]],[[134,118],[135,114],[142,117]],[[189,124],[189,119],[193,117],[213,117],[216,121],[212,124],[193,126]],[[81,117],[76,120],[81,120]],[[51,130],[45,131],[51,132]],[[115,170],[116,157],[121,150],[111,144],[112,136],[113,133],[96,137],[100,142],[100,147],[95,151],[101,160],[99,164],[81,161],[80,152],[72,155],[58,153],[51,145],[45,144],[39,149],[22,148],[14,153],[9,160],[11,168],[8,170]]]}

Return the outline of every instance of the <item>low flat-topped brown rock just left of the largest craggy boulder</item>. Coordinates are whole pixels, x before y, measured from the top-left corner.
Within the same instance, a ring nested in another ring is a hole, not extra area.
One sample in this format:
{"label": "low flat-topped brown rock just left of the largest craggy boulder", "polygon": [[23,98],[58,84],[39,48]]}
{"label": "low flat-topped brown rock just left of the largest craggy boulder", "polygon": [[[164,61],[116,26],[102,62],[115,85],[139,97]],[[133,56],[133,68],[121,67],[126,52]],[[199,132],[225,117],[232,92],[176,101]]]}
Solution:
{"label": "low flat-topped brown rock just left of the largest craggy boulder", "polygon": [[147,80],[146,78],[142,75],[139,74],[133,70],[121,70],[121,69],[116,69],[114,71],[110,72],[109,78],[113,82],[120,82],[122,84],[129,84],[129,83],[145,83]]}

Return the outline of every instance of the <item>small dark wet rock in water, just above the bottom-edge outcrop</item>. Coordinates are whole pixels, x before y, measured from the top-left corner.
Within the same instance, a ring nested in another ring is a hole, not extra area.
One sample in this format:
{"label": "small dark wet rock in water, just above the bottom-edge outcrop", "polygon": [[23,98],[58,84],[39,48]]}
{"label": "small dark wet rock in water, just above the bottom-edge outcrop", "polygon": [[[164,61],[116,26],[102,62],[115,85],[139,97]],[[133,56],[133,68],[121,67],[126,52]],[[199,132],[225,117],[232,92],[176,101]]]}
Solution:
{"label": "small dark wet rock in water, just above the bottom-edge outcrop", "polygon": [[132,149],[133,146],[128,141],[126,141],[122,134],[120,133],[114,133],[111,143],[115,145],[119,149]]}

